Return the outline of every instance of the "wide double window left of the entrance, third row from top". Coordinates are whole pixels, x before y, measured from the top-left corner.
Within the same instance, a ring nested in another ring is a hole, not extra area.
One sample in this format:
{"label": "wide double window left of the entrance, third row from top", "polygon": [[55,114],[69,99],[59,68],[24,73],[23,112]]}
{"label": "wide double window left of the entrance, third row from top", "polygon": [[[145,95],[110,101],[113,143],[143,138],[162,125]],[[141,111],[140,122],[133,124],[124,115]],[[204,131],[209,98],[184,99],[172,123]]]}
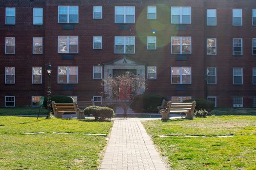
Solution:
{"label": "wide double window left of the entrance, third row from top", "polygon": [[59,84],[77,84],[78,83],[78,67],[59,66],[58,67],[58,83]]}

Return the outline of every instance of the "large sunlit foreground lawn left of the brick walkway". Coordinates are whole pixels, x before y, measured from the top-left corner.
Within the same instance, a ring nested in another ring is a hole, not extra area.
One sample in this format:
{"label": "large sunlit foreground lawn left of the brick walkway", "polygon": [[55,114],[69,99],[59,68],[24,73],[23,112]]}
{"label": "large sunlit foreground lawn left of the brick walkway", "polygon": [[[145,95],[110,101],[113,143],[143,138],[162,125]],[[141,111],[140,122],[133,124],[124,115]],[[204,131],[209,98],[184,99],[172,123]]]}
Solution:
{"label": "large sunlit foreground lawn left of the brick walkway", "polygon": [[[98,170],[111,121],[0,116],[0,170]],[[25,135],[24,133],[45,132]],[[52,134],[52,132],[78,133]]]}

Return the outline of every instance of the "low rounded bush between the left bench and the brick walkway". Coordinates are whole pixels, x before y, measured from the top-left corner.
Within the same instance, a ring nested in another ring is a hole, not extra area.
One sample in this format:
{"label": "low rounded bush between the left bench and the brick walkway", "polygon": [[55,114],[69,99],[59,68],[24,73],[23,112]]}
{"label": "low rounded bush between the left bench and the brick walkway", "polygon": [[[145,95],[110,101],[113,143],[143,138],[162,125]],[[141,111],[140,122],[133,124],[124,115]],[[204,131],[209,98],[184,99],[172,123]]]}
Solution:
{"label": "low rounded bush between the left bench and the brick walkway", "polygon": [[88,116],[92,114],[95,120],[105,120],[114,117],[114,110],[109,107],[89,106],[84,109],[84,114]]}

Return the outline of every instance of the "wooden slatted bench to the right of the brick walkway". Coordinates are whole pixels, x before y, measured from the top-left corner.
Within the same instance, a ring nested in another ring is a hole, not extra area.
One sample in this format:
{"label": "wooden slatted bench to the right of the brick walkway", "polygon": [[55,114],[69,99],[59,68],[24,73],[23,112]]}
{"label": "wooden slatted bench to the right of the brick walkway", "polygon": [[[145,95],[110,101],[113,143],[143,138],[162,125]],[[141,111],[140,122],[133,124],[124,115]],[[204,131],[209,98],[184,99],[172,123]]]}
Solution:
{"label": "wooden slatted bench to the right of the brick walkway", "polygon": [[160,110],[162,120],[169,120],[170,113],[185,113],[187,119],[193,119],[196,101],[187,103],[169,101],[164,103],[164,108]]}

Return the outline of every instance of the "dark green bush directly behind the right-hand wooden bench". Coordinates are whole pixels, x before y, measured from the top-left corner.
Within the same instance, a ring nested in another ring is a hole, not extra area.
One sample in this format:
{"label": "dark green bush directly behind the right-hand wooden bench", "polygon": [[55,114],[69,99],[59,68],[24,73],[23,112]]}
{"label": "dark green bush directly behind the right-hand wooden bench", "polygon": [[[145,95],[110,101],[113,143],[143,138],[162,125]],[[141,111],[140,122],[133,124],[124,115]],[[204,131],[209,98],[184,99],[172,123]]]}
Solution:
{"label": "dark green bush directly behind the right-hand wooden bench", "polygon": [[186,100],[184,102],[192,102],[192,101],[196,101],[197,104],[196,104],[196,110],[207,110],[208,112],[211,112],[214,107],[215,107],[215,104],[213,101],[210,101],[210,100],[206,100],[206,99],[191,99],[191,100]]}

